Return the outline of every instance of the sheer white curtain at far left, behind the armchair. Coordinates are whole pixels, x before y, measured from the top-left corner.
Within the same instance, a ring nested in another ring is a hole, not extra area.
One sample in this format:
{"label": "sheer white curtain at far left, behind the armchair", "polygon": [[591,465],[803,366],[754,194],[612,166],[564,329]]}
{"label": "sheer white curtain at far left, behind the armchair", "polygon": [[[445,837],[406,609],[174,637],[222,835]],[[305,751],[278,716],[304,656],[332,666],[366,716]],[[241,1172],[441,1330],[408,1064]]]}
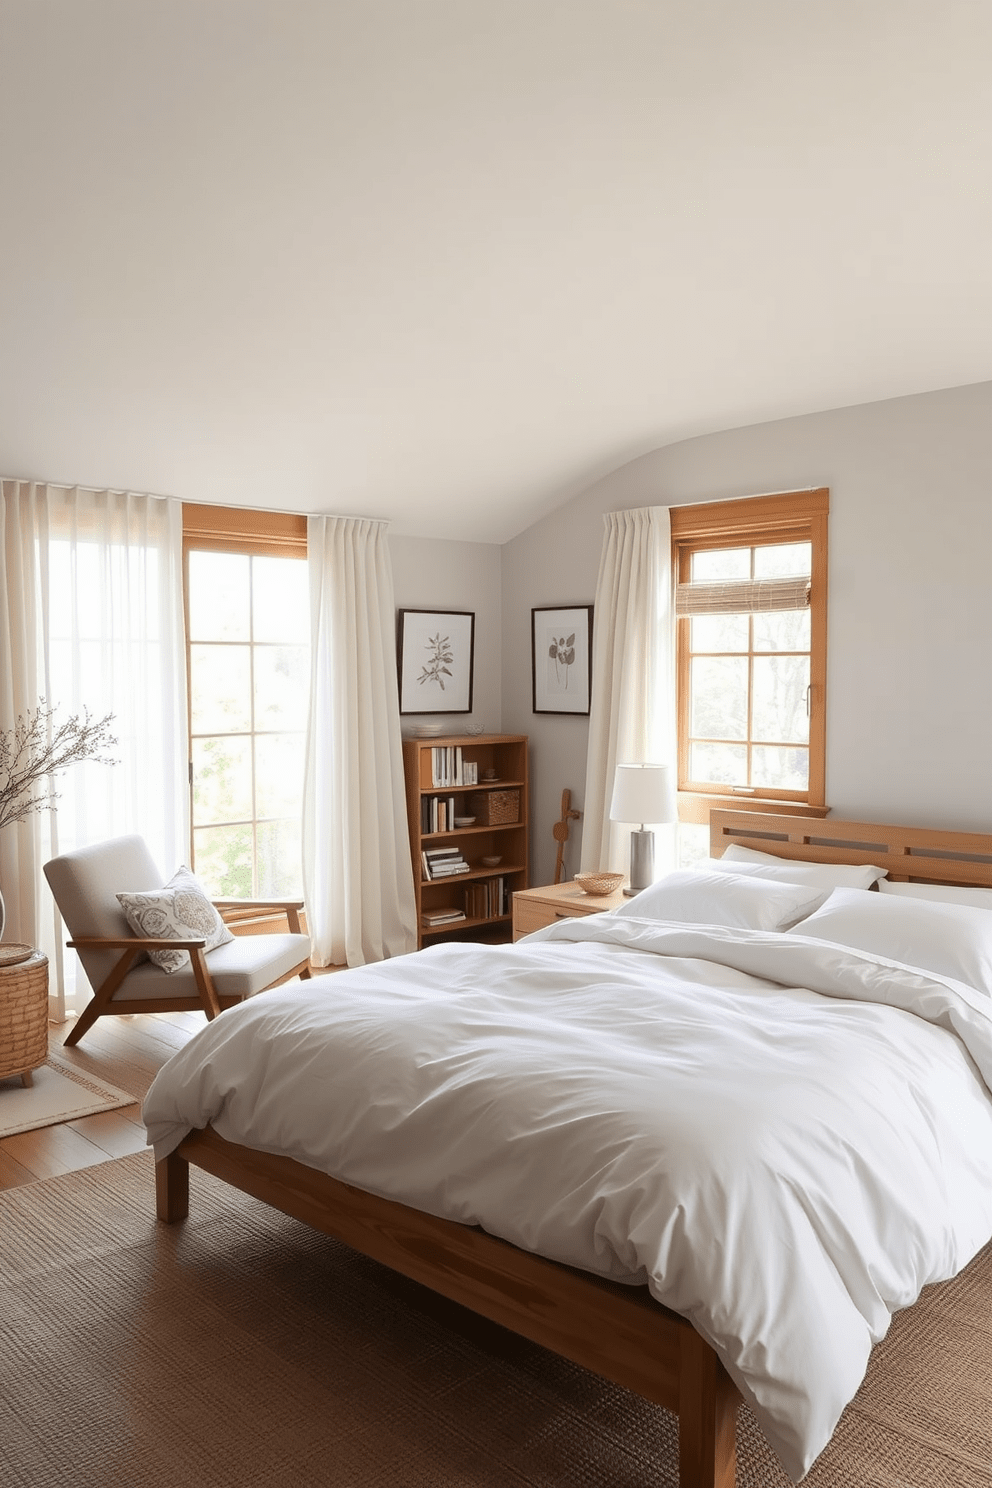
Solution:
{"label": "sheer white curtain at far left, behind the armchair", "polygon": [[117,740],[119,763],[73,765],[55,811],[0,833],[4,936],[45,951],[61,1018],[76,1004],[76,957],[42,865],[128,832],[167,878],[189,859],[181,503],[33,481],[3,481],[1,496],[0,729],[45,698],[55,722],[113,713]]}

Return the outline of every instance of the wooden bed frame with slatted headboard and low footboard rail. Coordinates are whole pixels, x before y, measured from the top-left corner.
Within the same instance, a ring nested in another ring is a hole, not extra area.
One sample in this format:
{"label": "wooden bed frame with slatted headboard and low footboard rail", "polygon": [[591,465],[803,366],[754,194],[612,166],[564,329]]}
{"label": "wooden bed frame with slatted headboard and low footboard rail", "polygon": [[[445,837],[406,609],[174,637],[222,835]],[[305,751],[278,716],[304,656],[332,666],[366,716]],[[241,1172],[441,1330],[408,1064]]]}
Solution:
{"label": "wooden bed frame with slatted headboard and low footboard rail", "polygon": [[[992,836],[748,811],[711,812],[711,856],[729,842],[812,863],[875,863],[894,879],[992,888]],[[156,1164],[158,1216],[189,1213],[189,1165],[678,1417],[680,1488],[733,1488],[741,1396],[690,1323],[626,1287],[518,1250],[482,1229],[350,1187],[290,1158],[190,1132]]]}

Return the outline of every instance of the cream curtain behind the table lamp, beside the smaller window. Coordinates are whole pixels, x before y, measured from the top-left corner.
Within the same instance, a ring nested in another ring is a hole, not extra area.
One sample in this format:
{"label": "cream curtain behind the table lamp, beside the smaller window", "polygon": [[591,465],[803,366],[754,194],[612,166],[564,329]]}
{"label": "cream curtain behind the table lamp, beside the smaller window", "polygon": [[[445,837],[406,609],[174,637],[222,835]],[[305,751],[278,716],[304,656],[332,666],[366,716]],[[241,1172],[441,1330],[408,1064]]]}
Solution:
{"label": "cream curtain behind the table lamp, beside the smaller window", "polygon": [[[642,506],[607,512],[604,522],[593,612],[582,870],[626,872],[631,827],[610,821],[616,768],[637,762],[675,763],[671,516],[666,506]],[[659,833],[659,872],[674,866],[674,833]]]}

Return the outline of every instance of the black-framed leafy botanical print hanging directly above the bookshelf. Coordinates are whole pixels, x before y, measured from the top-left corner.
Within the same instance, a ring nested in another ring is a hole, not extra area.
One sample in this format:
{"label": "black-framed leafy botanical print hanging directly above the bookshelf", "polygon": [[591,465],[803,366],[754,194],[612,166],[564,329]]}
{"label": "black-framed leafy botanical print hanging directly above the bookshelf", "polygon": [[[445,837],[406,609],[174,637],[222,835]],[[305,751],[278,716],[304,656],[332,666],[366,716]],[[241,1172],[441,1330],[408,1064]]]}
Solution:
{"label": "black-framed leafy botanical print hanging directly above the bookshelf", "polygon": [[473,610],[400,610],[400,713],[471,713]]}

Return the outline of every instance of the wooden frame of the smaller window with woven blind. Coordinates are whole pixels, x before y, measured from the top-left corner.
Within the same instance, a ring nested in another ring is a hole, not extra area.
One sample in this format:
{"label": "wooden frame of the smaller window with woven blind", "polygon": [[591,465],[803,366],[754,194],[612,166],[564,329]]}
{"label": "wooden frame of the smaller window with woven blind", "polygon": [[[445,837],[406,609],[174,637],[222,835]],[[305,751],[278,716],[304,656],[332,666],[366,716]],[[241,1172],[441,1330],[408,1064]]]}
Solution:
{"label": "wooden frame of the smaller window with woven blind", "polygon": [[675,677],[678,723],[678,817],[708,821],[712,806],[748,811],[788,811],[796,815],[827,814],[827,516],[830,491],[778,491],[739,501],[709,501],[677,506],[672,522],[672,574],[689,582],[695,552],[706,548],[750,548],[773,543],[811,545],[809,591],[809,784],[805,793],[712,786],[683,789],[689,754],[689,616],[675,620]]}

